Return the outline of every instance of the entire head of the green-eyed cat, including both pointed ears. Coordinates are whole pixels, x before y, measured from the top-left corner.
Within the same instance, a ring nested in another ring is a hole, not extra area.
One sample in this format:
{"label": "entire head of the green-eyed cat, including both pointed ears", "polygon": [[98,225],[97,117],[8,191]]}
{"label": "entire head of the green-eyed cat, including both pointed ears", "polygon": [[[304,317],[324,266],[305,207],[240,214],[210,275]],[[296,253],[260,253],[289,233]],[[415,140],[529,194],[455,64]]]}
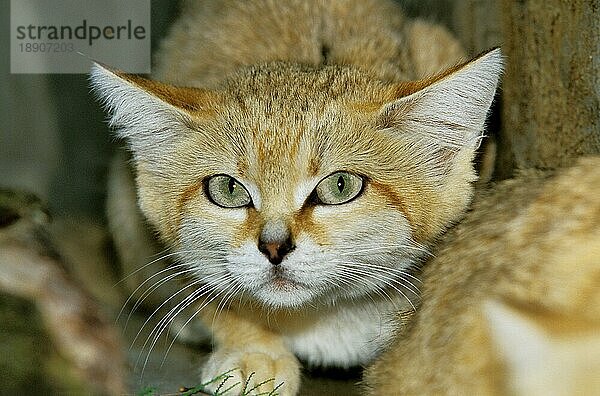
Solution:
{"label": "entire head of the green-eyed cat, including both pointed ears", "polygon": [[292,307],[401,292],[469,203],[501,63],[412,83],[272,63],[214,90],[95,65],[91,82],[161,238],[213,290]]}

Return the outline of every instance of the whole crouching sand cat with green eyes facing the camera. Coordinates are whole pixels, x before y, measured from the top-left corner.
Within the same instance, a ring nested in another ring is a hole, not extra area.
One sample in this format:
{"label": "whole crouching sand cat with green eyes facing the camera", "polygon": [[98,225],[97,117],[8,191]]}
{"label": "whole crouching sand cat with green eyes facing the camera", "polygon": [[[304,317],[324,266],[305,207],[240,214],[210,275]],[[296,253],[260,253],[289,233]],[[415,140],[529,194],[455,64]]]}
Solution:
{"label": "whole crouching sand cat with green eyes facing the camera", "polygon": [[[502,59],[461,54],[391,1],[202,1],[155,80],[93,68],[141,212],[191,278],[179,307],[212,330],[203,379],[235,368],[228,384],[293,395],[299,361],[363,365],[387,345],[412,268],[471,199]],[[113,229],[147,245],[119,191]]]}

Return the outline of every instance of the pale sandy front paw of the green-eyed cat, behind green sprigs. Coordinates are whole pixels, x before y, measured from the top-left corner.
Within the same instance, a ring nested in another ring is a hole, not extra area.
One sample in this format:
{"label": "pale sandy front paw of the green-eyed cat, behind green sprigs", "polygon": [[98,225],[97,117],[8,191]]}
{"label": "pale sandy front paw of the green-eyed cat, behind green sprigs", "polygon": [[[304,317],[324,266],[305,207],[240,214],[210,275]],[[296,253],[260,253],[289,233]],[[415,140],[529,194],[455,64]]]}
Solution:
{"label": "pale sandy front paw of the green-eyed cat, behind green sprigs", "polygon": [[207,388],[218,389],[219,395],[294,396],[300,388],[300,364],[288,351],[218,349],[202,369],[202,382],[209,381]]}

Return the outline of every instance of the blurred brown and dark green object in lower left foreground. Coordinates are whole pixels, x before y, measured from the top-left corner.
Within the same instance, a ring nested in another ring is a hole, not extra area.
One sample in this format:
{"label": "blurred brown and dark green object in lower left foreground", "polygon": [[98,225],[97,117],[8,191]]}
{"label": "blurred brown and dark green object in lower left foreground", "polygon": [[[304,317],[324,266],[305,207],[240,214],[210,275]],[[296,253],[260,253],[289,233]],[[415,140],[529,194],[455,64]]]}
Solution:
{"label": "blurred brown and dark green object in lower left foreground", "polygon": [[48,222],[36,197],[0,190],[0,328],[7,335],[0,389],[124,393],[117,329],[67,273]]}

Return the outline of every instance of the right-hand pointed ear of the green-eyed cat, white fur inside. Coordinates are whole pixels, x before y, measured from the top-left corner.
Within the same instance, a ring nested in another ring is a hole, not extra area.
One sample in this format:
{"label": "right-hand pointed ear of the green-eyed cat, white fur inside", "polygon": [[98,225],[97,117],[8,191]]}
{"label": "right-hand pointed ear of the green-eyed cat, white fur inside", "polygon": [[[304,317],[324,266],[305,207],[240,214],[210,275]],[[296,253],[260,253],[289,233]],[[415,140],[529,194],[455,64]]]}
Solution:
{"label": "right-hand pointed ear of the green-eyed cat, white fur inside", "polygon": [[383,106],[381,129],[420,147],[420,155],[447,173],[453,160],[471,161],[502,72],[500,49],[432,78],[397,85],[399,99]]}

